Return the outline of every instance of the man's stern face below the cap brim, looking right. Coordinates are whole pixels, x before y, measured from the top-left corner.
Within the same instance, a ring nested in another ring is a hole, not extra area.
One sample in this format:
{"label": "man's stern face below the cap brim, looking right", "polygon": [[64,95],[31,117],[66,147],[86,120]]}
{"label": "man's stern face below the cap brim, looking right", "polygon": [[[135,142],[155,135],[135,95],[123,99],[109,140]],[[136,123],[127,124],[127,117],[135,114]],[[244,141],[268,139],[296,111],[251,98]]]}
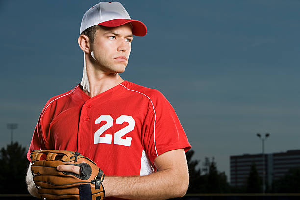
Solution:
{"label": "man's stern face below the cap brim, looking right", "polygon": [[92,62],[96,62],[103,72],[124,72],[129,60],[132,39],[131,25],[128,23],[114,28],[98,28],[94,43],[91,44],[95,58]]}

